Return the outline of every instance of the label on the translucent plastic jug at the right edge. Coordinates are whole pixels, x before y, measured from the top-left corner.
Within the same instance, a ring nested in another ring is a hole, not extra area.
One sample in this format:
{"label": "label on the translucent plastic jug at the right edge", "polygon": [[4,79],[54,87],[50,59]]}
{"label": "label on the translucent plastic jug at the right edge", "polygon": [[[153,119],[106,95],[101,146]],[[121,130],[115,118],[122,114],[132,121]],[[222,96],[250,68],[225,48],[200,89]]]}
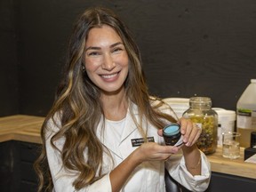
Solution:
{"label": "label on the translucent plastic jug at the right edge", "polygon": [[236,124],[242,129],[256,128],[256,110],[237,108]]}

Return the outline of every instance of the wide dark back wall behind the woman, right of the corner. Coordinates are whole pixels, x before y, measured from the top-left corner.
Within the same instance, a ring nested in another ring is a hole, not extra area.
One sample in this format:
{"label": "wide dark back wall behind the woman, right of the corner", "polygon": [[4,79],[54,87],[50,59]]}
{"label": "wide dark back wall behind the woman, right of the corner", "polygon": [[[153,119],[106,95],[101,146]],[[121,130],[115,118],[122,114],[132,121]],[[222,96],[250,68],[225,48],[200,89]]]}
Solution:
{"label": "wide dark back wall behind the woman, right of the corner", "polygon": [[209,96],[213,107],[234,110],[250,79],[256,78],[254,0],[13,2],[21,114],[47,113],[72,25],[95,4],[114,9],[132,29],[149,91],[160,97]]}

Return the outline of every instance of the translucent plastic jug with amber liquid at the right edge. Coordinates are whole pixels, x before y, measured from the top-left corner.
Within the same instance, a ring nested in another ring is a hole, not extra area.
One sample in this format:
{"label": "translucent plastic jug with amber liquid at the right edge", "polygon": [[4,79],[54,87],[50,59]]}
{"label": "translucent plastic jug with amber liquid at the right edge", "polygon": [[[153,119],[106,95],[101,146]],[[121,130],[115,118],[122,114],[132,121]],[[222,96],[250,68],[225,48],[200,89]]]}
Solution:
{"label": "translucent plastic jug with amber liquid at the right edge", "polygon": [[250,147],[251,132],[256,131],[256,79],[251,79],[236,104],[236,129],[241,133],[241,147]]}

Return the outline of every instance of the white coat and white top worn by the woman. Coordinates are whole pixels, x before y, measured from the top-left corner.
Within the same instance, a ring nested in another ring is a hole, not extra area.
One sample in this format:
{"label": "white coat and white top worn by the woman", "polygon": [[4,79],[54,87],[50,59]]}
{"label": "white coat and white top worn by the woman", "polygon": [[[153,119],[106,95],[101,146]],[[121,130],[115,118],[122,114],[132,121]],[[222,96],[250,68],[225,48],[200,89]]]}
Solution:
{"label": "white coat and white top worn by the woman", "polygon": [[[171,113],[169,111],[169,113]],[[133,114],[138,117],[137,107],[134,105]],[[52,173],[52,180],[54,185],[54,191],[56,192],[70,192],[76,191],[73,187],[73,181],[76,179],[77,172],[67,171],[62,167],[62,161],[60,152],[52,148],[50,144],[50,139],[54,132],[58,132],[60,129],[59,125],[55,125],[52,121],[48,122],[49,132],[47,132],[46,140],[46,151],[48,164]],[[138,131],[136,124],[132,120],[130,111],[128,110],[127,116],[120,122],[113,122],[106,120],[105,131],[101,132],[101,127],[103,124],[103,119],[101,119],[100,124],[97,129],[97,137],[102,142],[111,156],[114,159],[114,164],[112,164],[112,159],[108,156],[108,153],[103,154],[103,172],[106,173],[100,180],[95,181],[92,185],[82,188],[79,191],[87,192],[111,192],[111,183],[109,179],[109,173],[118,164],[120,164],[127,156],[129,156],[136,146],[132,145],[132,140],[140,139],[140,132]],[[164,145],[164,139],[157,134],[156,127],[148,124],[148,137],[153,138],[155,142],[160,145]],[[118,139],[117,139],[118,138]],[[57,148],[62,149],[65,139],[62,138],[55,142]],[[86,151],[84,151],[84,156],[86,158]],[[188,172],[184,157],[181,154],[173,155],[168,161],[154,161],[154,162],[144,162],[140,164],[132,172],[130,178],[124,183],[124,187],[121,191],[123,192],[165,192],[164,183],[164,167],[170,172],[172,178],[181,183],[185,188],[192,191],[204,191],[208,188],[210,178],[211,178],[211,167],[204,153],[201,152],[201,175],[192,176]]]}

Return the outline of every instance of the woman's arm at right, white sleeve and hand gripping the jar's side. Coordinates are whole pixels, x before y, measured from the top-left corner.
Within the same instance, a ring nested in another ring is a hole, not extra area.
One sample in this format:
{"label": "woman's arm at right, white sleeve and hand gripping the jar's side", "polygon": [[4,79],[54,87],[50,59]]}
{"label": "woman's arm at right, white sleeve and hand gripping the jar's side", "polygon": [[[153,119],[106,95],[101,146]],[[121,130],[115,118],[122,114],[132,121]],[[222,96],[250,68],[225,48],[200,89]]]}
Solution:
{"label": "woman's arm at right, white sleeve and hand gripping the jar's side", "polygon": [[[191,191],[205,191],[211,179],[211,166],[207,157],[196,147],[201,129],[188,119],[181,118],[180,132],[183,136],[182,158],[172,156],[165,164],[172,178]],[[162,131],[158,134],[161,135]],[[180,154],[181,155],[181,154]]]}

